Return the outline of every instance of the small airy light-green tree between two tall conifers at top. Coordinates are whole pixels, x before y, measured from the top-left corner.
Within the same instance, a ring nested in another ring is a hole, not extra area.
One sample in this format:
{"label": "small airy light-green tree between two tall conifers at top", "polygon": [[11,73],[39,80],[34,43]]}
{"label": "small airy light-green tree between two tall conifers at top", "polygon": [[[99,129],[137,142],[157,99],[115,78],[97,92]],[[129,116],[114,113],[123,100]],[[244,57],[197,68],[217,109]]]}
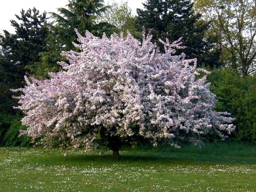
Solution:
{"label": "small airy light-green tree between two tall conifers at top", "polygon": [[134,36],[138,36],[134,27],[134,17],[132,15],[132,9],[128,7],[128,2],[108,4],[111,8],[102,14],[98,18],[99,21],[108,22],[118,28],[118,33],[122,31],[124,35],[127,35],[127,30]]}

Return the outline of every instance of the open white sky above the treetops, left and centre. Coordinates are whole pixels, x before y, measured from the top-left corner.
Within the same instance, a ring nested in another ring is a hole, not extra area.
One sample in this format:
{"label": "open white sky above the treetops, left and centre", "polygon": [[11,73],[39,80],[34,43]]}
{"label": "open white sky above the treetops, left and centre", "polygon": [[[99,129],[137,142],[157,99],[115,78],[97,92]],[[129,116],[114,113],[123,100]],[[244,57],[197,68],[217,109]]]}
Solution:
{"label": "open white sky above the treetops, left and centre", "polygon": [[[116,0],[121,2],[122,0]],[[127,1],[127,0],[124,0]],[[133,15],[136,14],[137,8],[143,8],[142,3],[146,0],[128,0],[128,6],[132,8]],[[112,0],[105,0],[105,4],[112,2]],[[42,13],[46,12],[57,12],[57,8],[65,7],[68,4],[68,0],[0,0],[0,33],[3,29],[13,33],[14,27],[11,26],[10,20],[15,20],[15,14],[20,16],[20,11],[23,8],[25,12],[28,8],[35,7]]]}

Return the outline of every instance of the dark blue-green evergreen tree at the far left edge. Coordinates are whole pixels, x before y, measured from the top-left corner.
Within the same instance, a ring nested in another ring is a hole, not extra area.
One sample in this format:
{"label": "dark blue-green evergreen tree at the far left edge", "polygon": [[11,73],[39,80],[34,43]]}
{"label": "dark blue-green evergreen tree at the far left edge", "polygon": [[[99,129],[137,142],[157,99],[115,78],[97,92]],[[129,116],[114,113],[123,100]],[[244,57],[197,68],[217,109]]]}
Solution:
{"label": "dark blue-green evergreen tree at the far left edge", "polygon": [[22,86],[24,75],[29,72],[26,66],[39,61],[38,53],[46,45],[48,34],[46,12],[39,15],[33,8],[27,12],[22,9],[20,13],[21,16],[15,15],[18,22],[11,20],[15,33],[4,30],[0,35],[0,110],[6,113],[11,112],[16,103],[10,89]]}

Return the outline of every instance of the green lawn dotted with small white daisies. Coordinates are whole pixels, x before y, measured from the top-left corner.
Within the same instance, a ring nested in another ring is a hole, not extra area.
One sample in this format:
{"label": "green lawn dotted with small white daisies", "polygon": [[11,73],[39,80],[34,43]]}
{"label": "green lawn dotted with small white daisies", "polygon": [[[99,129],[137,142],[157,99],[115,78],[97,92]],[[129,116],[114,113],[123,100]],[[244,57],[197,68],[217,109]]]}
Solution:
{"label": "green lawn dotted with small white daisies", "polygon": [[256,191],[256,147],[124,149],[61,155],[61,149],[0,148],[0,191]]}

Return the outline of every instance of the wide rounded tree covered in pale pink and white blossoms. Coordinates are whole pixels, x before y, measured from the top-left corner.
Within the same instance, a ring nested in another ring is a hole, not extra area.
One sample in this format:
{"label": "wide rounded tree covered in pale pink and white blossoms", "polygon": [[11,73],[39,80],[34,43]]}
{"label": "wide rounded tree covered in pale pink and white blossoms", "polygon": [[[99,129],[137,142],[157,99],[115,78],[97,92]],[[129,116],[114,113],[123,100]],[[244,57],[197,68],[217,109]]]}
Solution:
{"label": "wide rounded tree covered in pale pink and white blossoms", "polygon": [[[100,145],[119,155],[119,147],[139,137],[179,147],[200,143],[208,132],[225,139],[235,127],[227,112],[215,112],[209,91],[210,72],[196,68],[196,59],[174,55],[180,40],[161,41],[165,53],[145,36],[140,43],[128,33],[108,39],[78,32],[81,52],[62,52],[69,63],[51,79],[29,80],[18,97],[26,116],[22,124],[37,144],[45,147]],[[197,79],[199,72],[205,76]]]}

